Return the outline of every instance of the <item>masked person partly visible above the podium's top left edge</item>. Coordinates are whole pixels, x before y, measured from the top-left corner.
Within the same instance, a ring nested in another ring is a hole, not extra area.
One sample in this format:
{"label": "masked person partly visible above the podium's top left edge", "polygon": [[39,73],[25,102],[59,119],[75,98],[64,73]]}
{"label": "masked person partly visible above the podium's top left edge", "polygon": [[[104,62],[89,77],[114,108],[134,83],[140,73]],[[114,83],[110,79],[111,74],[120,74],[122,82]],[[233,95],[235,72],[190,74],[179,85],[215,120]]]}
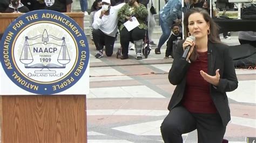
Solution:
{"label": "masked person partly visible above the podium's top left edge", "polygon": [[9,8],[5,10],[6,13],[26,13],[29,9],[21,3],[21,0],[11,0]]}

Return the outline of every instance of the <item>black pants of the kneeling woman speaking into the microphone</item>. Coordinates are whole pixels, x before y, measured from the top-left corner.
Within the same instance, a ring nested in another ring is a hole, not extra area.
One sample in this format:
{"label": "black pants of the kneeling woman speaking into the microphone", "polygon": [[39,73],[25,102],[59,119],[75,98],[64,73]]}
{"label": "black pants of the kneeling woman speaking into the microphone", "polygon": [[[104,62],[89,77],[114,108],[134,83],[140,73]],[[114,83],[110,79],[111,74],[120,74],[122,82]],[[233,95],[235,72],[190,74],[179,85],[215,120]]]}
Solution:
{"label": "black pants of the kneeling woman speaking into the microphone", "polygon": [[191,113],[183,106],[172,109],[160,128],[165,143],[182,143],[181,134],[196,129],[199,143],[221,143],[226,131],[218,113]]}

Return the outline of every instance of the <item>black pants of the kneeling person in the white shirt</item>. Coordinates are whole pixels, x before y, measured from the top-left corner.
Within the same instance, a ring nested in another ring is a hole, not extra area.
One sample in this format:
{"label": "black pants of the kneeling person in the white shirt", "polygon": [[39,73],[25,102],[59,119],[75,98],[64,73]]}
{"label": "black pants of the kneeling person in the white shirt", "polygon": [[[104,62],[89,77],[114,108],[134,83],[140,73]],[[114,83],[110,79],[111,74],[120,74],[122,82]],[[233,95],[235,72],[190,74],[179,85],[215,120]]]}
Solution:
{"label": "black pants of the kneeling person in the white shirt", "polygon": [[92,31],[92,37],[94,44],[96,46],[96,49],[102,50],[105,45],[105,53],[107,56],[111,56],[113,54],[113,48],[114,48],[114,40],[116,37],[112,37],[109,35],[106,35],[101,30],[93,30]]}

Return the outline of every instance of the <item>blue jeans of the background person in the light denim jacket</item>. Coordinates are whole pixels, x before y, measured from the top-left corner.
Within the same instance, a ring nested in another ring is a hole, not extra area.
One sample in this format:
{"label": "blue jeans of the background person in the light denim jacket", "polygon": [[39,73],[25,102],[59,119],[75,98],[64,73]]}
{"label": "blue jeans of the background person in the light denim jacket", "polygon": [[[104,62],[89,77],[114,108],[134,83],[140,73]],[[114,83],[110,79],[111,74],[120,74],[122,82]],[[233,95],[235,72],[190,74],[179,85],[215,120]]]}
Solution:
{"label": "blue jeans of the background person in the light denim jacket", "polygon": [[161,48],[161,46],[164,45],[165,41],[170,37],[171,34],[171,28],[168,23],[164,22],[160,17],[159,17],[159,23],[162,29],[163,34],[161,35],[158,45],[158,48]]}

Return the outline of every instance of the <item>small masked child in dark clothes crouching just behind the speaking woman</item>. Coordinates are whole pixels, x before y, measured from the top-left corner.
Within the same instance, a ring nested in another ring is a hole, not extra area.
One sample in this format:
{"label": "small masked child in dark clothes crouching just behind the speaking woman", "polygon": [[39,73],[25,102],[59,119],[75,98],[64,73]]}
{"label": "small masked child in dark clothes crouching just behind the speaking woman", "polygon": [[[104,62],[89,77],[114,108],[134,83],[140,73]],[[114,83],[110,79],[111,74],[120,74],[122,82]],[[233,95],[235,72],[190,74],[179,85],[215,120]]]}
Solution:
{"label": "small masked child in dark clothes crouching just behind the speaking woman", "polygon": [[173,42],[178,39],[178,37],[182,38],[182,33],[180,32],[180,25],[173,24],[171,28],[171,36],[169,40],[166,42],[166,51],[165,51],[165,58],[168,59],[169,56],[173,58]]}

